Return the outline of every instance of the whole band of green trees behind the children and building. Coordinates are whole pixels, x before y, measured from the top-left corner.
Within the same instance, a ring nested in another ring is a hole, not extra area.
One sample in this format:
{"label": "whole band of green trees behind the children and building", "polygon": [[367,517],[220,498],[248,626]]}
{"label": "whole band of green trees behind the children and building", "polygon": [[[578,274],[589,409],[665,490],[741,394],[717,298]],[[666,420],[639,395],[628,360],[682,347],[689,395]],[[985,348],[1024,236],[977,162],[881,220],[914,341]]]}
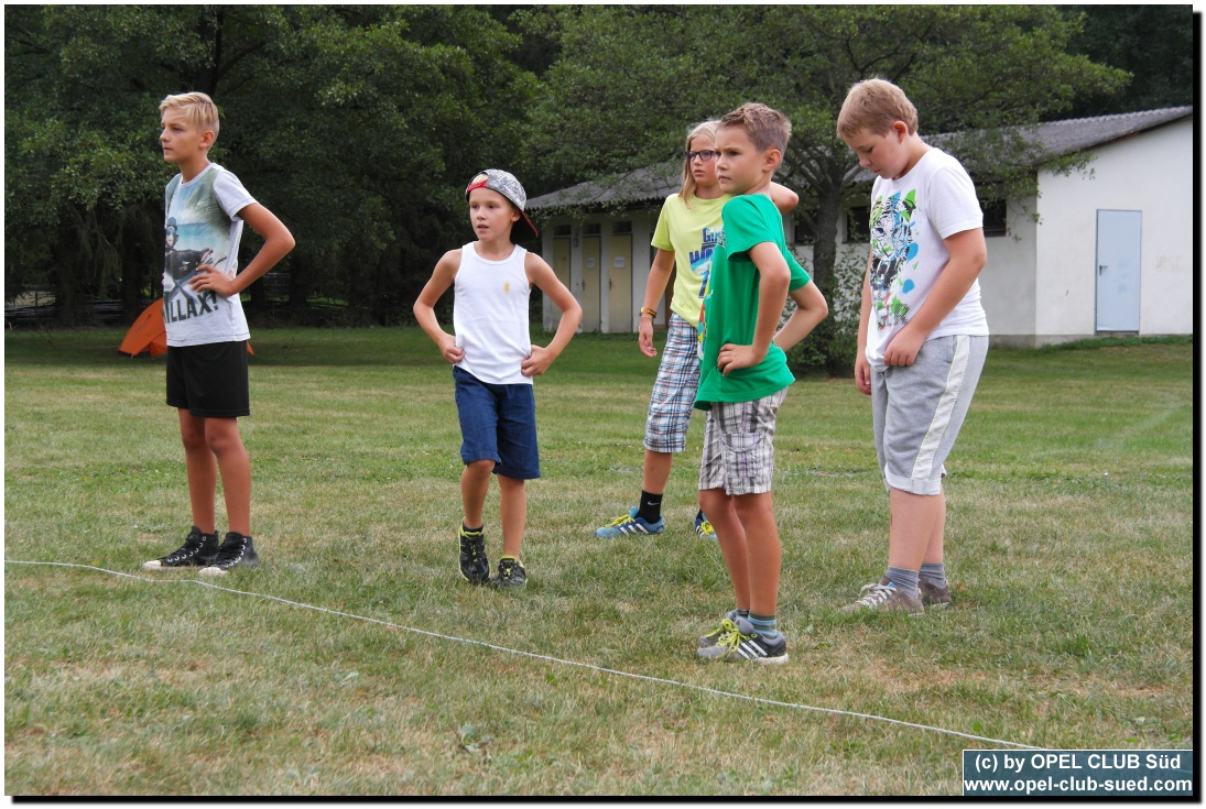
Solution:
{"label": "whole band of green trees behind the children and building", "polygon": [[[469,236],[459,189],[474,171],[515,170],[534,195],[654,165],[674,158],[691,124],[747,100],[792,119],[779,180],[801,193],[824,282],[838,260],[837,213],[865,194],[833,133],[851,83],[900,83],[926,135],[974,130],[954,151],[1024,193],[1026,177],[1003,171],[1024,156],[1002,127],[1079,112],[1087,99],[1112,110],[1101,105],[1128,75],[1117,104],[1189,102],[1187,13],[11,5],[5,293],[53,282],[60,304],[121,295],[130,315],[157,293],[172,175],[157,106],[189,89],[222,111],[213,159],[299,236],[277,270],[294,306],[334,298],[351,304],[351,321],[404,318],[438,256]],[[262,295],[256,285],[253,306]]]}

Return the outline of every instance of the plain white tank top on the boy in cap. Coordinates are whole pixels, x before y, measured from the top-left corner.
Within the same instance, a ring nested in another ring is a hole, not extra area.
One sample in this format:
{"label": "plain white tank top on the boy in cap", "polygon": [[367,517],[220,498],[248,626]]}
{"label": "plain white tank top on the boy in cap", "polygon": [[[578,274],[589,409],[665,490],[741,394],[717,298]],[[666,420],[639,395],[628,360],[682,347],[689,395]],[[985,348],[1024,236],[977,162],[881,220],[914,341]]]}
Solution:
{"label": "plain white tank top on the boy in cap", "polygon": [[482,382],[532,385],[520,373],[520,363],[532,353],[526,257],[527,250],[519,245],[500,262],[481,258],[473,244],[461,248],[452,329],[464,357],[457,367]]}

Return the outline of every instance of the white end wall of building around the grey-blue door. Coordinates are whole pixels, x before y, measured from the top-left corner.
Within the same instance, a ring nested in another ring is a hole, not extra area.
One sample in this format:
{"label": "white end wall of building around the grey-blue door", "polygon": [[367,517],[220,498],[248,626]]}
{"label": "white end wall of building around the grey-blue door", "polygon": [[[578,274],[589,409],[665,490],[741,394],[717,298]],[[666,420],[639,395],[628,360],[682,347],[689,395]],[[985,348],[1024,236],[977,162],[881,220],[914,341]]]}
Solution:
{"label": "white end wall of building around the grey-blue door", "polygon": [[1099,210],[1143,215],[1140,334],[1193,334],[1193,119],[1095,156],[1088,174],[1040,174],[1037,342],[1096,333]]}

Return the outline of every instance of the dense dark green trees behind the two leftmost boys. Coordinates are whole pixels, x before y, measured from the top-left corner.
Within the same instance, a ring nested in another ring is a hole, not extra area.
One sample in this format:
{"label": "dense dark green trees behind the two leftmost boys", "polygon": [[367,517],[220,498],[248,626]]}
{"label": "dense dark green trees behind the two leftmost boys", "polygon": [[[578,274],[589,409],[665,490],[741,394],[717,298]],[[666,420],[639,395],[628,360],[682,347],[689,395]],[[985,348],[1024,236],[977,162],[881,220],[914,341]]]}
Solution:
{"label": "dense dark green trees behind the two leftmost boys", "polygon": [[83,294],[119,288],[130,316],[157,294],[169,93],[215,99],[211,157],[298,236],[293,301],[384,321],[467,235],[458,189],[519,151],[534,88],[520,39],[468,6],[11,6],[5,23],[5,292],[53,279],[64,318]]}

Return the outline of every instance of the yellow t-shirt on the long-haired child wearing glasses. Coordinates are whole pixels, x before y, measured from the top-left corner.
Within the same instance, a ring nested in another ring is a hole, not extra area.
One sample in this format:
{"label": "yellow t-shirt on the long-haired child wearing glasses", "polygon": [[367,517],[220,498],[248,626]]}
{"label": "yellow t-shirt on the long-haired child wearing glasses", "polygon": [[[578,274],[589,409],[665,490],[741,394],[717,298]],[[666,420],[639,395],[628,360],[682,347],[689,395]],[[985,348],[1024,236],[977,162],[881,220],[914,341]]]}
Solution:
{"label": "yellow t-shirt on the long-haired child wearing glasses", "polygon": [[674,253],[674,294],[671,311],[691,326],[699,326],[699,304],[712,271],[712,251],[720,233],[720,210],[732,197],[691,199],[691,207],[683,198],[671,194],[662,204],[651,244],[657,250]]}

